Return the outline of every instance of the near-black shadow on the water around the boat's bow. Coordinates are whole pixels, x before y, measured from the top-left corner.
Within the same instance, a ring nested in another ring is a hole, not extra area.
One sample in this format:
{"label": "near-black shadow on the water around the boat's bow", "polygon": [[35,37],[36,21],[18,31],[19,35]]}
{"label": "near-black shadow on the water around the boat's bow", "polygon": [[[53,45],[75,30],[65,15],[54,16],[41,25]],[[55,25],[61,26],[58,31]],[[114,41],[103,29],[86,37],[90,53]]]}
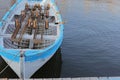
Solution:
{"label": "near-black shadow on the water around the boat's bow", "polygon": [[[61,74],[61,49],[59,48],[55,55],[42,67],[40,68],[32,78],[59,78]],[[5,68],[7,64],[0,57],[0,71]],[[32,68],[31,68],[32,69]],[[1,75],[0,78],[18,78],[17,75],[8,67]]]}

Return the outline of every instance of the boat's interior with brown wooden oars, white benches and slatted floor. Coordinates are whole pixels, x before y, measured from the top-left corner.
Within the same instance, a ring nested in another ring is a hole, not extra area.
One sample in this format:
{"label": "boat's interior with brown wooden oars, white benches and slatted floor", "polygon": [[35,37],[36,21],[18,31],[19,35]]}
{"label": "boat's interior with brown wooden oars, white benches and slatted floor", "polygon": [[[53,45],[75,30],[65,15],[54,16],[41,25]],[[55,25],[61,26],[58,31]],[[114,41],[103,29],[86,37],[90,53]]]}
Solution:
{"label": "boat's interior with brown wooden oars, white benches and slatted floor", "polygon": [[56,17],[51,6],[25,3],[20,14],[9,20],[4,27],[3,46],[7,49],[44,49],[52,45],[58,34]]}

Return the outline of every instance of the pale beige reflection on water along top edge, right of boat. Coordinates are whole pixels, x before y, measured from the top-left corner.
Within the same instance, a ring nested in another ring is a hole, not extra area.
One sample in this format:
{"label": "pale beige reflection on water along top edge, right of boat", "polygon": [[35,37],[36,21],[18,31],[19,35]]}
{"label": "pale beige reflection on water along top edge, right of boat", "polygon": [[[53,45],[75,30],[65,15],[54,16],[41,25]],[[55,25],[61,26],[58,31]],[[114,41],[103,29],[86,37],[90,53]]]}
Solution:
{"label": "pale beige reflection on water along top edge, right of boat", "polygon": [[[119,6],[120,5],[120,0],[76,0],[72,1],[71,0],[58,0],[56,1],[58,5],[60,5],[60,10],[61,12],[68,11],[69,9],[71,12],[73,12],[73,9],[70,7],[73,7],[75,9],[75,6],[78,6],[76,9],[83,10],[86,13],[89,12],[94,12],[93,10],[108,10],[110,13],[117,13],[120,11]],[[75,3],[76,5],[73,5],[71,3]]]}

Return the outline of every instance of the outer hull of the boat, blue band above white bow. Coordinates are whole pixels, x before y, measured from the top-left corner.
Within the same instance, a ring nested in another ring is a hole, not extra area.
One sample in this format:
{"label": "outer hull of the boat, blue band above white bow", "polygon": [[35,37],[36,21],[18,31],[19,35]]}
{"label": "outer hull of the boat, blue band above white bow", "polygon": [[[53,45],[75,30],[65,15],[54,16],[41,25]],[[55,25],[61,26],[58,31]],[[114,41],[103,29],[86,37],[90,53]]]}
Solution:
{"label": "outer hull of the boat, blue band above white bow", "polygon": [[[10,16],[10,13],[16,8],[16,6],[21,1],[22,0],[18,0],[17,3],[15,3],[2,18],[2,21],[0,22],[1,28],[2,26],[4,26],[4,21],[7,20],[7,18]],[[28,0],[28,1],[41,2],[41,0]],[[56,12],[59,12],[58,8],[55,6],[54,0],[51,0],[51,4],[54,6]],[[61,15],[57,14],[57,17],[59,21],[62,22]],[[24,52],[24,65],[20,65],[21,61],[20,50],[5,49],[4,47],[0,46],[0,55],[6,62],[8,62],[8,65],[16,72],[16,74],[19,77],[22,77],[24,75],[25,78],[30,78],[40,67],[42,67],[54,55],[54,53],[61,46],[63,41],[64,25],[60,24],[59,26],[60,26],[59,37],[55,40],[55,42],[52,45],[43,50],[30,49]],[[24,67],[23,72],[20,71],[21,66]]]}

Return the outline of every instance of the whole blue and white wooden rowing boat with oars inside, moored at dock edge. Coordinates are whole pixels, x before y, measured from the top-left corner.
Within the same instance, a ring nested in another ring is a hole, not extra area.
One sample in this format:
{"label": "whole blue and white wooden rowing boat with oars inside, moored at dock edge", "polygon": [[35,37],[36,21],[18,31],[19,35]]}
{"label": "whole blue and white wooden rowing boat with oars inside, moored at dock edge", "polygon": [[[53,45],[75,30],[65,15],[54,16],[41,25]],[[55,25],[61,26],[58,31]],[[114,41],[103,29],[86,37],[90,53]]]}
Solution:
{"label": "whole blue and white wooden rowing boat with oars inside, moored at dock edge", "polygon": [[54,0],[17,0],[0,22],[0,55],[30,78],[60,47],[63,29]]}

